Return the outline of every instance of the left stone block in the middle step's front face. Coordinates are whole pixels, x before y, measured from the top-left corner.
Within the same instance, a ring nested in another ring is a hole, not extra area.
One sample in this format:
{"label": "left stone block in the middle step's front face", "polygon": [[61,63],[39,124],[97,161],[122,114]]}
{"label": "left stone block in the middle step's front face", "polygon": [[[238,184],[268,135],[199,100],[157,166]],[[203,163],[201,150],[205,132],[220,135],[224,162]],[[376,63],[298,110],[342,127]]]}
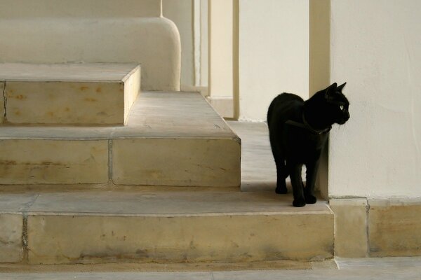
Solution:
{"label": "left stone block in the middle step's front face", "polygon": [[105,183],[108,141],[0,140],[0,183]]}

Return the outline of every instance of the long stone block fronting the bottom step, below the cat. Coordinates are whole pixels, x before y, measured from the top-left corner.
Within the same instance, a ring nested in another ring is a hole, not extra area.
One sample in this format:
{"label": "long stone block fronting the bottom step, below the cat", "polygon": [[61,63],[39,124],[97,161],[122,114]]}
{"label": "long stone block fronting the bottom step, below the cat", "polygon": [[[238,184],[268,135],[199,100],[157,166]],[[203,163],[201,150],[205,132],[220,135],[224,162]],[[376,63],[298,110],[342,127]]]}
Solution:
{"label": "long stone block fronting the bottom step, below the cat", "polygon": [[323,259],[333,215],[30,215],[28,237],[32,264]]}

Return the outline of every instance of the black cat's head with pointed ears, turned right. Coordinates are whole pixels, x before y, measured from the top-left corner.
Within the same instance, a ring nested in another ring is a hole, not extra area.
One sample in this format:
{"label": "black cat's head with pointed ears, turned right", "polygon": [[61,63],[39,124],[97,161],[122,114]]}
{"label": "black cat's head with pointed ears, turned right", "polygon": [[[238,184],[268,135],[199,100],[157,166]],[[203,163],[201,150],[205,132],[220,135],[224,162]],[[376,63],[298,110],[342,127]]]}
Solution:
{"label": "black cat's head with pointed ears, turned right", "polygon": [[338,86],[336,83],[328,86],[323,92],[323,98],[326,101],[326,110],[331,116],[333,123],[343,125],[349,120],[349,102],[342,93],[342,89],[347,83]]}

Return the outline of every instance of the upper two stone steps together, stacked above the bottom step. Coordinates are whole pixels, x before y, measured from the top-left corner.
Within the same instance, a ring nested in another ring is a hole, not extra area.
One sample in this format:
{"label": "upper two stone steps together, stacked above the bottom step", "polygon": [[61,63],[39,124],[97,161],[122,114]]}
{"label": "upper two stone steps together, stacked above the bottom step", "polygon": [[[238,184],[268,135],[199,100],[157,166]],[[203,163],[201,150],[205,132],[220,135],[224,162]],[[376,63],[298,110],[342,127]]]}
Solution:
{"label": "upper two stone steps together, stacked above the bottom step", "polygon": [[240,139],[199,94],[136,99],[140,67],[130,64],[0,69],[10,73],[0,76],[1,184],[240,185]]}

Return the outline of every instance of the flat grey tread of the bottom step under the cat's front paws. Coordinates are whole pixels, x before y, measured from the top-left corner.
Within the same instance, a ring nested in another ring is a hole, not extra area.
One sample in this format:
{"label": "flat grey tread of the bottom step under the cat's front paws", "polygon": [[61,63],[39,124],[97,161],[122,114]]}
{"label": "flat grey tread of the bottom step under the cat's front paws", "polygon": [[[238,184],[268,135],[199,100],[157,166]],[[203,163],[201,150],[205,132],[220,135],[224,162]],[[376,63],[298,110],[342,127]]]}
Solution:
{"label": "flat grey tread of the bottom step under the cat's front paws", "polygon": [[326,202],[302,208],[290,195],[272,192],[220,190],[73,190],[1,193],[0,214],[19,213],[80,216],[238,216],[332,212]]}

